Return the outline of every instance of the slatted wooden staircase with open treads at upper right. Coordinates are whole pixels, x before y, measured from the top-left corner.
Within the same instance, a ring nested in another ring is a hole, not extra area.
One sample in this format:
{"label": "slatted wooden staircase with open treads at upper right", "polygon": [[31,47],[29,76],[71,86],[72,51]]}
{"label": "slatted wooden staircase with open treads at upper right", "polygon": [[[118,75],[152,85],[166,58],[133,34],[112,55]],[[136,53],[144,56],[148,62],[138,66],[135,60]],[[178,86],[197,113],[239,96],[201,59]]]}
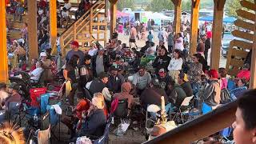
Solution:
{"label": "slatted wooden staircase with open treads at upper right", "polygon": [[242,30],[232,31],[234,37],[244,39],[234,39],[230,42],[226,60],[226,70],[228,71],[228,74],[232,76],[237,75],[238,71],[241,70],[246,61],[248,51],[253,48],[254,41],[255,14],[252,13],[252,11],[256,10],[256,5],[246,0],[242,0],[240,4],[242,9],[236,11],[240,18],[234,22],[234,25],[243,30],[248,30],[249,32]]}

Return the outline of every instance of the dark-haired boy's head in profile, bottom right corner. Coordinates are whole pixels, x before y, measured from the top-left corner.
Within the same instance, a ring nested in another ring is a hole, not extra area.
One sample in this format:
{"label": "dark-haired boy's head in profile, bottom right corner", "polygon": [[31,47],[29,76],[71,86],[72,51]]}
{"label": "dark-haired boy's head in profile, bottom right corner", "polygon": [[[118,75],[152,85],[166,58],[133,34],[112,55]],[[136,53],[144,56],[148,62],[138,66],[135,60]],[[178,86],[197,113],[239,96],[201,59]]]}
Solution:
{"label": "dark-haired boy's head in profile, bottom right corner", "polygon": [[238,99],[233,137],[236,144],[256,143],[256,90],[250,90]]}

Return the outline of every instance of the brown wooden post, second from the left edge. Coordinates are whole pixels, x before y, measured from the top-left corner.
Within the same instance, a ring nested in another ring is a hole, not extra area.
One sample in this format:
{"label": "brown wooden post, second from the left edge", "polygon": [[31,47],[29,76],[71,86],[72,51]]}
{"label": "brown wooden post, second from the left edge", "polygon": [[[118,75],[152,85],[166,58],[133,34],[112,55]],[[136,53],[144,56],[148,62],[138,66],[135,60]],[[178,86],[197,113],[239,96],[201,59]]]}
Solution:
{"label": "brown wooden post, second from the left edge", "polygon": [[38,22],[37,22],[37,1],[28,0],[28,33],[29,33],[29,62],[38,58]]}

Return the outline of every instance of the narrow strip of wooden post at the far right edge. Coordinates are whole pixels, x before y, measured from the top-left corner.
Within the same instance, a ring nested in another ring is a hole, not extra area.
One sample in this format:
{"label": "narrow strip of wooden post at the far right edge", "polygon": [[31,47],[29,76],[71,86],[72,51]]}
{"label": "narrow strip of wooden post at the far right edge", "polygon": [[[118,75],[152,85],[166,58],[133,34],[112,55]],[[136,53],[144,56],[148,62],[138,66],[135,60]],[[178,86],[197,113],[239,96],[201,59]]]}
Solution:
{"label": "narrow strip of wooden post at the far right edge", "polygon": [[[254,0],[254,3],[256,4],[256,0]],[[250,89],[256,88],[256,15],[254,16],[254,18],[254,42],[250,64]]]}

